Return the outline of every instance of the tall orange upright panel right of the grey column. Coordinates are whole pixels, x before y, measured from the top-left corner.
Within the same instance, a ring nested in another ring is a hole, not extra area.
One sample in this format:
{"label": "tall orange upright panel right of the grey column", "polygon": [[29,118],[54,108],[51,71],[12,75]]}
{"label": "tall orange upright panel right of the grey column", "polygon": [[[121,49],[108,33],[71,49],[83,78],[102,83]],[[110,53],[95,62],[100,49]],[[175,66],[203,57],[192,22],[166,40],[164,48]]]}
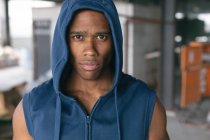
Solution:
{"label": "tall orange upright panel right of the grey column", "polygon": [[202,47],[194,44],[193,47],[181,48],[181,107],[197,102],[201,99],[200,75],[202,69]]}

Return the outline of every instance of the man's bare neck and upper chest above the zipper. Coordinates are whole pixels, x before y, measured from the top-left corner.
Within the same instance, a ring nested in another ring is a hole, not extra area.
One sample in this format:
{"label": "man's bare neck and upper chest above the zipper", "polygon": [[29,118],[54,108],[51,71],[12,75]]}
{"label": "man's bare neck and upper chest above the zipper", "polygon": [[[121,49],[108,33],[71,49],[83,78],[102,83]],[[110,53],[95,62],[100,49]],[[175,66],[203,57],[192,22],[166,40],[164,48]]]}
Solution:
{"label": "man's bare neck and upper chest above the zipper", "polygon": [[91,113],[97,100],[107,93],[113,85],[113,74],[106,72],[100,78],[87,80],[72,72],[66,84],[65,93],[78,100]]}

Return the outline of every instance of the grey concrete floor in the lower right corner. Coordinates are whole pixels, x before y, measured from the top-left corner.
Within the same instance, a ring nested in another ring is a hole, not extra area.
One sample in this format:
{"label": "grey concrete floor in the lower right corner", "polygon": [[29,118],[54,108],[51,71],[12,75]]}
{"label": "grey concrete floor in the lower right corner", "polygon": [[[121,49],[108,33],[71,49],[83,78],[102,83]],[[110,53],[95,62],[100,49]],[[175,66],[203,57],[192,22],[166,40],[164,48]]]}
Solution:
{"label": "grey concrete floor in the lower right corner", "polygon": [[208,124],[182,123],[176,113],[168,111],[167,122],[170,140],[210,140],[210,127]]}

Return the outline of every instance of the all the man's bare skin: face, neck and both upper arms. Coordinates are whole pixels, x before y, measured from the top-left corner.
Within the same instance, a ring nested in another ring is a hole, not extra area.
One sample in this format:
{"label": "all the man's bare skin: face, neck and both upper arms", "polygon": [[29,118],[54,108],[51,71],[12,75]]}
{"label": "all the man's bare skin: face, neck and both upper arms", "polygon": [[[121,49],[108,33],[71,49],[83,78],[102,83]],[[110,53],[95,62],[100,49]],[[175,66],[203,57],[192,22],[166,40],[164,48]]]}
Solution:
{"label": "all the man's bare skin: face, neck and both upper arms", "polygon": [[[91,10],[78,12],[70,25],[68,41],[73,70],[65,92],[91,113],[100,96],[113,85],[114,75],[110,69],[113,43],[105,16]],[[13,132],[13,140],[32,140],[26,127],[22,102],[13,116]],[[149,140],[169,140],[165,109],[158,99],[149,128]]]}

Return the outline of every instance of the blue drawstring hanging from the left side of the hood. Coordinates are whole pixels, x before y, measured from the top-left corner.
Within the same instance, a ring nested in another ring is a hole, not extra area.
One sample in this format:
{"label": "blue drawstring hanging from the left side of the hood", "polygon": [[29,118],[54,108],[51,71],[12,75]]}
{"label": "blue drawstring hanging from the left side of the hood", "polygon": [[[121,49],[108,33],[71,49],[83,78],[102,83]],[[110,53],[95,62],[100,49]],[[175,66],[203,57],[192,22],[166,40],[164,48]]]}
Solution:
{"label": "blue drawstring hanging from the left side of the hood", "polygon": [[61,124],[61,100],[58,94],[56,98],[54,140],[59,140],[60,124]]}

